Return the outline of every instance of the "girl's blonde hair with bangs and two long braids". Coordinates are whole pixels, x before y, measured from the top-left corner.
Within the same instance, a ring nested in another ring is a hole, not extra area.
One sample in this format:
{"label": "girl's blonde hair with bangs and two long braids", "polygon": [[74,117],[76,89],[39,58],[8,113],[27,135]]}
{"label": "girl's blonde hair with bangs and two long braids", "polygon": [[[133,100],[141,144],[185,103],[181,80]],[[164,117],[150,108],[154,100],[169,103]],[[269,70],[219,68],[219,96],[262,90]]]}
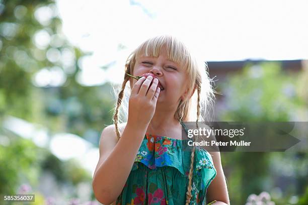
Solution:
{"label": "girl's blonde hair with bangs and two long braids", "polygon": [[[167,57],[178,63],[185,69],[188,77],[188,94],[184,100],[180,100],[177,111],[174,115],[175,119],[179,122],[181,121],[210,121],[211,113],[209,112],[213,107],[213,99],[215,97],[214,90],[212,88],[212,79],[208,76],[208,66],[206,62],[201,61],[197,58],[197,55],[192,54],[192,50],[189,50],[187,46],[184,45],[179,39],[170,36],[163,35],[150,38],[143,42],[139,47],[137,47],[127,58],[125,64],[125,73],[132,74],[136,59],[141,56],[152,56],[158,57],[163,49],[167,51]],[[204,64],[203,64],[204,63]],[[118,123],[121,121],[121,116],[119,115],[120,106],[125,102],[124,110],[121,113],[125,114],[127,118],[127,107],[128,98],[130,93],[130,87],[127,86],[127,81],[129,81],[129,76],[124,74],[124,80],[120,90],[114,86],[114,91],[118,93],[115,112],[113,121],[115,124],[117,139],[120,139],[120,133],[118,128]],[[124,90],[129,90],[129,93],[125,93]],[[197,110],[197,112],[196,112]],[[192,197],[192,175],[193,175],[193,163],[194,163],[194,152],[195,147],[192,149],[191,153],[191,163],[189,169],[189,183],[186,192],[186,205],[189,204]]]}

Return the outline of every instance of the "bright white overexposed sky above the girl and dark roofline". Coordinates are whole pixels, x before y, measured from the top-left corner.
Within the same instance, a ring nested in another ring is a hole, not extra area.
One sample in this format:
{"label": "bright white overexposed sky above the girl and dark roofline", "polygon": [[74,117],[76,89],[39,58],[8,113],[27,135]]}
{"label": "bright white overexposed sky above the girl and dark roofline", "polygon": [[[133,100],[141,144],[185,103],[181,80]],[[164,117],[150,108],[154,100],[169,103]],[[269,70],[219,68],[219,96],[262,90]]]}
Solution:
{"label": "bright white overexposed sky above the girl and dark roofline", "polygon": [[[308,1],[56,3],[66,38],[93,53],[79,62],[82,69],[87,68],[79,77],[84,85],[124,73],[129,53],[144,40],[161,34],[181,39],[205,61],[308,59]],[[109,69],[101,71],[106,65]],[[122,79],[113,81],[120,83]]]}

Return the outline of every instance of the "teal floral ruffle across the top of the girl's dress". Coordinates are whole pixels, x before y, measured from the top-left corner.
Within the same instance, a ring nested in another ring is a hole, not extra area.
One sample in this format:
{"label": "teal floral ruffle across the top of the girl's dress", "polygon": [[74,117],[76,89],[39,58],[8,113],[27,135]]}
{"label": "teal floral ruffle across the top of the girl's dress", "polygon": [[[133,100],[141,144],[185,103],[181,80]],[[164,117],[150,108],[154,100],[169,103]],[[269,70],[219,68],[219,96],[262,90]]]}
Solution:
{"label": "teal floral ruffle across the top of the girl's dress", "polygon": [[[183,176],[188,176],[191,147],[188,140],[173,139],[146,133],[137,152],[132,171],[138,169],[139,163],[149,169],[170,166],[176,168]],[[211,155],[202,148],[195,149],[194,176],[198,176],[199,189],[207,188],[216,176]]]}

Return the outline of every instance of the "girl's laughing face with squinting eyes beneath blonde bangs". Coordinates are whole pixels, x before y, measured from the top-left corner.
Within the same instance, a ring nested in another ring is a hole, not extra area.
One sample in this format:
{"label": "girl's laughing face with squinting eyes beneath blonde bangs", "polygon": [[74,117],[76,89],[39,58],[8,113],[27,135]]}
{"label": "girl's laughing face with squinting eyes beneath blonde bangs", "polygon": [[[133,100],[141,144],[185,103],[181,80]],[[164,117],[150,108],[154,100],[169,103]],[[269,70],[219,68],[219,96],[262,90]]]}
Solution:
{"label": "girl's laughing face with squinting eyes beneath blonde bangs", "polygon": [[[133,75],[141,76],[148,72],[155,74],[164,87],[164,90],[160,92],[158,102],[164,101],[164,104],[176,104],[177,106],[180,98],[184,99],[185,88],[188,84],[184,68],[168,60],[166,52],[161,53],[159,57],[140,56],[136,59]],[[133,79],[132,83],[136,81]]]}

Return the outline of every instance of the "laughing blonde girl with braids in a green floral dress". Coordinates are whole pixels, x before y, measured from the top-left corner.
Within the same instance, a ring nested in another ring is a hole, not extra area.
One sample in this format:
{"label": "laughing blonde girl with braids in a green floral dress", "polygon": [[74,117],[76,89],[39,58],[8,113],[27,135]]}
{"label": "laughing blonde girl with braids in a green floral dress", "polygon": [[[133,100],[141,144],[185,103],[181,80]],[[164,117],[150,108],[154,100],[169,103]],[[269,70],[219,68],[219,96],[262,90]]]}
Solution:
{"label": "laughing blonde girl with braids in a green floral dress", "polygon": [[[128,75],[145,73],[154,79]],[[128,119],[119,123],[127,89]],[[116,205],[229,204],[219,152],[184,151],[186,141],[181,139],[182,128],[187,132],[183,122],[205,120],[212,98],[206,67],[181,41],[158,36],[142,43],[127,59],[114,125],[101,134],[93,177],[97,200]]]}

